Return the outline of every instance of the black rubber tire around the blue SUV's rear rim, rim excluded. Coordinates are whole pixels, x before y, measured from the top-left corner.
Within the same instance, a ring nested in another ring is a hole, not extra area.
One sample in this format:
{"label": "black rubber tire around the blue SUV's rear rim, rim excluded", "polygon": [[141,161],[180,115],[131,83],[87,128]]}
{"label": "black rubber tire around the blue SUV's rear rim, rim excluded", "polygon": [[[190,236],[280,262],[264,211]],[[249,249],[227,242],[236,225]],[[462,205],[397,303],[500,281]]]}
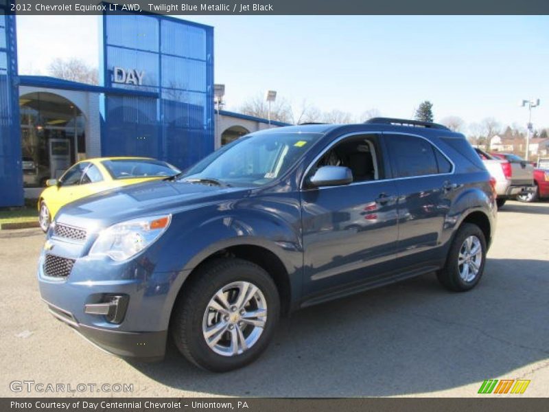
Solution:
{"label": "black rubber tire around the blue SUV's rear rim, rim excluded", "polygon": [[[463,242],[465,242],[465,239],[469,238],[469,236],[476,236],[478,240],[480,240],[482,247],[482,262],[480,262],[480,268],[478,268],[476,277],[471,282],[465,282],[459,275],[458,256]],[[445,267],[445,275],[450,277],[450,283],[454,286],[455,290],[470,290],[478,284],[482,274],[484,273],[486,252],[486,240],[484,239],[484,233],[482,233],[480,227],[470,223],[465,223],[465,225],[459,229],[458,233],[456,233],[456,238],[454,238],[454,242],[452,243]]]}

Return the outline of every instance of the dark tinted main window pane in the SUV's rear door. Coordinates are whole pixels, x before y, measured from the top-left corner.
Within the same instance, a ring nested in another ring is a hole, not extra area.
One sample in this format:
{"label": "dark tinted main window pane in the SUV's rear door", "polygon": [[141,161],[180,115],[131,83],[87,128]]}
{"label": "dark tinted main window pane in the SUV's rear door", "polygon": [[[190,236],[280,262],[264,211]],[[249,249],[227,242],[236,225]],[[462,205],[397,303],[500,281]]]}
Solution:
{"label": "dark tinted main window pane in the SUV's rear door", "polygon": [[424,176],[437,174],[438,165],[432,144],[420,137],[388,135],[387,146],[395,177]]}

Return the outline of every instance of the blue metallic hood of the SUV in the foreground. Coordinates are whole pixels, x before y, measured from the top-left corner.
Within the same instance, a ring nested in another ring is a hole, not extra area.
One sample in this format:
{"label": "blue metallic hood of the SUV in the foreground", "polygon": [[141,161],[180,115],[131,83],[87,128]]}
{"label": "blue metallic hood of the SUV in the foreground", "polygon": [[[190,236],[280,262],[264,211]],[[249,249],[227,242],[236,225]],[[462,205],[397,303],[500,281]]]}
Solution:
{"label": "blue metallic hood of the SUV in the foreground", "polygon": [[62,207],[56,222],[75,227],[107,227],[116,222],[176,213],[244,196],[250,187],[211,186],[183,181],[148,181],[94,194]]}

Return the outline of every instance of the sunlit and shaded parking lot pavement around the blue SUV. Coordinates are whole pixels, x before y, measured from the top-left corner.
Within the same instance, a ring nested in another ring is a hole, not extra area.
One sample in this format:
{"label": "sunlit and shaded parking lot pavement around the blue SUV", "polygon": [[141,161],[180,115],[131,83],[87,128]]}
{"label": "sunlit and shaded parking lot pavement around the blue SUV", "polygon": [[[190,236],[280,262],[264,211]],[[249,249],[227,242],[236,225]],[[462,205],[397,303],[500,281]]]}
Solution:
{"label": "sunlit and shaded parking lot pavement around the blue SUV", "polygon": [[[549,396],[548,227],[549,203],[509,202],[476,289],[449,293],[425,275],[301,310],[259,361],[229,374],[200,371],[173,347],[156,364],[97,350],[40,301],[43,235],[1,231],[0,396],[478,396],[489,378],[528,379],[522,396]],[[13,380],[133,393],[14,394]]]}

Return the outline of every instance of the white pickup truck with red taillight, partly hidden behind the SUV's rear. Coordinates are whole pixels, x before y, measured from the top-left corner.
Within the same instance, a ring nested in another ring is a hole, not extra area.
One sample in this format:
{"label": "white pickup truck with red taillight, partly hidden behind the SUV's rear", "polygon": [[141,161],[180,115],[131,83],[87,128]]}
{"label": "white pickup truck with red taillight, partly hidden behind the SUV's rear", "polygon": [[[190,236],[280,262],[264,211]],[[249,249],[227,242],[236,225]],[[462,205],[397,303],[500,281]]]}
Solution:
{"label": "white pickup truck with red taillight, partly hidden behind the SUV's rear", "polygon": [[496,202],[502,207],[508,199],[519,194],[535,192],[534,166],[522,159],[498,159],[487,152],[475,148],[482,163],[495,179]]}

